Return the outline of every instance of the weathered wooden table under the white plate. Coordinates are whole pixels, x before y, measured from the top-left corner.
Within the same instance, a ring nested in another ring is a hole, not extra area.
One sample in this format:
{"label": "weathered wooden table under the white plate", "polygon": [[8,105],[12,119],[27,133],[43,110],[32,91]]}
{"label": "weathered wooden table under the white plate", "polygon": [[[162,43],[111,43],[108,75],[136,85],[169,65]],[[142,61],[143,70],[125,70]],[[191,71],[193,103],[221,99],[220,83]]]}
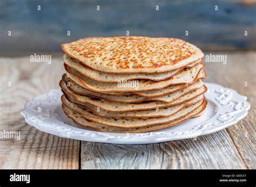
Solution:
{"label": "weathered wooden table under the white plate", "polygon": [[227,55],[227,64],[206,63],[205,81],[219,83],[247,96],[251,103],[248,116],[237,125],[196,140],[149,145],[85,142],[36,130],[25,123],[20,111],[33,97],[58,88],[64,73],[62,54],[52,54],[51,64],[29,62],[30,54],[1,57],[0,130],[21,131],[21,140],[0,139],[0,168],[256,169],[256,53],[222,54]]}

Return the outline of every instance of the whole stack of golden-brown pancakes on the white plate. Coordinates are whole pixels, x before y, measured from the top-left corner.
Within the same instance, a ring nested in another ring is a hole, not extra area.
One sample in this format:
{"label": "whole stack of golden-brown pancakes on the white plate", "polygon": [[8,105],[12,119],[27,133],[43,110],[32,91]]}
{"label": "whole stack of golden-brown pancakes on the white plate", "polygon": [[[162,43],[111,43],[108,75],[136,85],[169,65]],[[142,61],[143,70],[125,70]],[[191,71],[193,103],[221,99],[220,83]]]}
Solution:
{"label": "whole stack of golden-brown pancakes on the white plate", "polygon": [[100,132],[139,133],[206,108],[204,54],[174,38],[84,38],[63,44],[62,109]]}

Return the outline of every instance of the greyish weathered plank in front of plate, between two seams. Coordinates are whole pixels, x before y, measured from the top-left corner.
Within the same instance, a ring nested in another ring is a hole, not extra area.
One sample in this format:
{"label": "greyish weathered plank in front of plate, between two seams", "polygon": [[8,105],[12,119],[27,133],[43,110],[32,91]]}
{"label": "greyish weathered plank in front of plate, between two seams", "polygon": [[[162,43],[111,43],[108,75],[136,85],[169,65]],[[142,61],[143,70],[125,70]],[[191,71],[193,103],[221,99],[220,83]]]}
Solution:
{"label": "greyish weathered plank in front of plate, between two seams", "polygon": [[245,169],[226,130],[149,145],[82,142],[81,169]]}

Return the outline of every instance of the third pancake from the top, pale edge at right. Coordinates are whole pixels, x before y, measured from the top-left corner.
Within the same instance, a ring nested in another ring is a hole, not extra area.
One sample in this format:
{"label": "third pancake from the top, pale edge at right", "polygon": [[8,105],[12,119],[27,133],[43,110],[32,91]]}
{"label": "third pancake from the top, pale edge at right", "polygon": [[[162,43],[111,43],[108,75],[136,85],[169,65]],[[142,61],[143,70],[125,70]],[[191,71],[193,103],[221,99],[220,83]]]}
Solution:
{"label": "third pancake from the top, pale edge at right", "polygon": [[78,73],[74,69],[66,69],[68,71],[66,75],[74,82],[75,78],[82,83],[82,87],[95,92],[131,92],[131,91],[146,91],[146,90],[156,90],[168,87],[172,84],[192,84],[195,82],[200,74],[200,71],[204,73],[204,64],[198,64],[192,68],[185,68],[180,71],[177,75],[168,78],[164,81],[150,81],[150,80],[132,80],[124,81],[119,83],[104,83],[92,80],[83,74]]}

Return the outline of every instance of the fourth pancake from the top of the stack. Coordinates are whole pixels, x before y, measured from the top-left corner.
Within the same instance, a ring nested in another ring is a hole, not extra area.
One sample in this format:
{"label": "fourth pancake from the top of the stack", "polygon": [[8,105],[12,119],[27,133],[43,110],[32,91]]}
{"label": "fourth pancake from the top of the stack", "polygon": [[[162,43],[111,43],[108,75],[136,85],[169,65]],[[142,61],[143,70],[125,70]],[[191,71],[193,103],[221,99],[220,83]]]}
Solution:
{"label": "fourth pancake from the top of the stack", "polygon": [[182,90],[178,90],[173,93],[168,93],[163,96],[158,96],[158,97],[142,97],[142,96],[137,96],[134,94],[128,93],[127,95],[119,95],[119,96],[113,96],[109,94],[104,94],[104,93],[97,93],[93,92],[90,90],[87,90],[85,88],[79,87],[76,83],[72,81],[64,82],[60,81],[59,85],[61,88],[63,88],[63,84],[66,84],[66,86],[69,88],[70,91],[73,93],[78,93],[80,95],[86,95],[86,96],[92,96],[100,99],[105,99],[105,100],[110,100],[112,102],[120,102],[120,103],[136,103],[136,102],[142,102],[144,100],[159,100],[162,102],[167,102],[170,103],[173,100],[185,95],[187,92],[199,89],[204,86],[204,83],[202,81],[198,81],[189,87],[186,87]]}

